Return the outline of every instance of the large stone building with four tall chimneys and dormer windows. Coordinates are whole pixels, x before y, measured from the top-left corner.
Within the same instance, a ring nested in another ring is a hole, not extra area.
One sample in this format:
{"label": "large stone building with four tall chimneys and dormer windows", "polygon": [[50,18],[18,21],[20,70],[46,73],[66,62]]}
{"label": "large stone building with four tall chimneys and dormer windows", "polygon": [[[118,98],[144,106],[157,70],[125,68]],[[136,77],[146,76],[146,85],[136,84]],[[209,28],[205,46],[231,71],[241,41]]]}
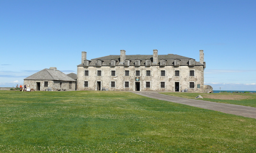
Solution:
{"label": "large stone building with four tall chimneys and dormer windows", "polygon": [[199,62],[180,55],[120,55],[86,59],[77,66],[77,90],[204,91],[204,51]]}

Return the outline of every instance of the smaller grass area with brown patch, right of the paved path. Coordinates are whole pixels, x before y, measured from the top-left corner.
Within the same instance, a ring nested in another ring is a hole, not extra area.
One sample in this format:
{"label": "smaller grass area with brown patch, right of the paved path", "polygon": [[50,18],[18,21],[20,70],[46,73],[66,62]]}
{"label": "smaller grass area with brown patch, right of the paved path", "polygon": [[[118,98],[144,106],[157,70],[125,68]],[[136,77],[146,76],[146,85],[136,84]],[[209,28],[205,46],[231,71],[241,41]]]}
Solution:
{"label": "smaller grass area with brown patch, right of the paved path", "polygon": [[213,101],[218,103],[227,103],[235,105],[243,105],[256,107],[256,94],[245,93],[188,93],[188,92],[161,92],[165,95],[195,99],[196,96],[201,95],[206,101]]}

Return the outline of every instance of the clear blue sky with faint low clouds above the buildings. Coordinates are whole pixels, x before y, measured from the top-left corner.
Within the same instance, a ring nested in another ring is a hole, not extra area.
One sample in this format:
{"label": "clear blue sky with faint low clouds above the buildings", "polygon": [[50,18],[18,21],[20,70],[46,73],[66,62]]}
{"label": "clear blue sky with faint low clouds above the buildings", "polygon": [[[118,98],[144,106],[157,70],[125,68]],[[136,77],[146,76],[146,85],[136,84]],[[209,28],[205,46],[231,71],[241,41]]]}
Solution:
{"label": "clear blue sky with faint low clouds above the buildings", "polygon": [[39,70],[76,73],[81,52],[177,54],[199,61],[214,90],[256,91],[255,0],[0,0],[0,86]]}

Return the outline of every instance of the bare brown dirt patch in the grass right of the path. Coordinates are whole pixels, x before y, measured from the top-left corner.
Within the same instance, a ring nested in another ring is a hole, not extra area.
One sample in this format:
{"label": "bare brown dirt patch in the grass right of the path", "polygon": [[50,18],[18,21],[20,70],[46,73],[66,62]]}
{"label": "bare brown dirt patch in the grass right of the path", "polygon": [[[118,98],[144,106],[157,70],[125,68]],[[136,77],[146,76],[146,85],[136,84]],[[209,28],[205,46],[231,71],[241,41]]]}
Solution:
{"label": "bare brown dirt patch in the grass right of the path", "polygon": [[254,99],[255,96],[247,96],[247,95],[234,95],[234,94],[225,94],[225,95],[202,95],[203,98],[211,98],[211,99],[221,99],[221,100],[241,100],[241,99]]}

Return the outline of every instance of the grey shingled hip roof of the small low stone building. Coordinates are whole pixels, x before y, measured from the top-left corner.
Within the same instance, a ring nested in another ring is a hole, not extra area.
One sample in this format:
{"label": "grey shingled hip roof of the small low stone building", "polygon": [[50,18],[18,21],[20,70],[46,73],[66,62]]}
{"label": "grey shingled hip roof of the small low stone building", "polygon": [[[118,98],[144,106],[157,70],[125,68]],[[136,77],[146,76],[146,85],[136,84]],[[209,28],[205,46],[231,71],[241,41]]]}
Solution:
{"label": "grey shingled hip roof of the small low stone building", "polygon": [[59,80],[59,81],[76,81],[59,70],[43,69],[24,80]]}

